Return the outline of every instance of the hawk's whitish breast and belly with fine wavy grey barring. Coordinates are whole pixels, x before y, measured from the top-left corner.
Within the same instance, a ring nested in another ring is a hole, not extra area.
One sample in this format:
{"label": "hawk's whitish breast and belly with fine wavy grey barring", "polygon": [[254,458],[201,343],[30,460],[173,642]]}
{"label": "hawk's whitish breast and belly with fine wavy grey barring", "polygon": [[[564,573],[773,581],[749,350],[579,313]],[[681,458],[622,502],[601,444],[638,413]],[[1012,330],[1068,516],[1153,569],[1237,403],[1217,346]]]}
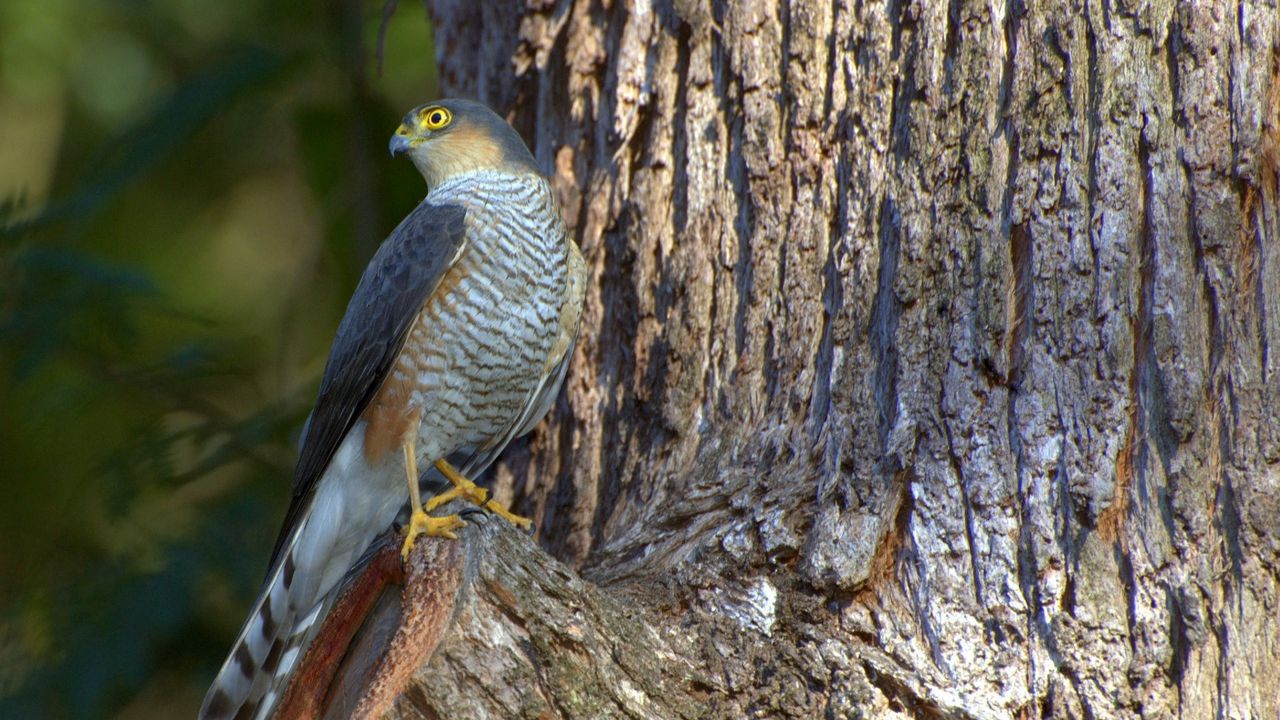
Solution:
{"label": "hawk's whitish breast and belly with fine wavy grey barring", "polygon": [[448,292],[426,302],[392,377],[412,388],[422,457],[474,448],[463,468],[474,474],[517,437],[539,388],[559,387],[547,379],[548,359],[566,345],[566,252],[577,249],[540,177],[477,173],[438,192],[467,206],[468,247],[442,283]]}

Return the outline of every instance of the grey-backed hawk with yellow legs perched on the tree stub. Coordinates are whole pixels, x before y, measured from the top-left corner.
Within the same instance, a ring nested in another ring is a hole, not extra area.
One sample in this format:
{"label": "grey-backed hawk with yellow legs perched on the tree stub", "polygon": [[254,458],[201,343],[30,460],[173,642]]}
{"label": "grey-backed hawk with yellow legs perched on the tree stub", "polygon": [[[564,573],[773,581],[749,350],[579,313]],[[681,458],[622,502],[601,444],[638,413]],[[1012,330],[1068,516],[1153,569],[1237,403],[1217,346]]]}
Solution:
{"label": "grey-backed hawk with yellow legs perched on the tree stub", "polygon": [[[428,191],[338,324],[266,579],[202,719],[271,716],[339,580],[406,502],[404,557],[424,534],[457,538],[458,515],[431,514],[456,498],[529,525],[471,478],[554,404],[586,265],[529,147],[483,102],[410,110],[389,150]],[[424,505],[421,478],[448,489]]]}

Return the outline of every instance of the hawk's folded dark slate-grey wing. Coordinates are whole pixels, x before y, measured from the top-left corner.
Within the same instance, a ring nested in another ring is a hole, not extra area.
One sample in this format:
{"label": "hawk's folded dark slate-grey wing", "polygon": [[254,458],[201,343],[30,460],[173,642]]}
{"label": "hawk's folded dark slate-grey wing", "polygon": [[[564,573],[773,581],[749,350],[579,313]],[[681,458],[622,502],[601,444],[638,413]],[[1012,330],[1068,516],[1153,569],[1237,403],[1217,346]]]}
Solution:
{"label": "hawk's folded dark slate-grey wing", "polygon": [[315,409],[302,432],[293,497],[271,565],[310,502],[316,482],[369,406],[404,346],[410,325],[466,246],[466,210],[422,201],[383,242],[338,325]]}

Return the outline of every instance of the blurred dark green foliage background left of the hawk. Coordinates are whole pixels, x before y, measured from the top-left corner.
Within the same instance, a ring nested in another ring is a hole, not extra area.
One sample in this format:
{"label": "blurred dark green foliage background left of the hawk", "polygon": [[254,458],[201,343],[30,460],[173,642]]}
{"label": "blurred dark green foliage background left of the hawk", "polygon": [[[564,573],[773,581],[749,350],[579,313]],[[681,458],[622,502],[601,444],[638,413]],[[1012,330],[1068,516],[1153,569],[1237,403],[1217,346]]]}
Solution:
{"label": "blurred dark green foliage background left of the hawk", "polygon": [[417,6],[0,3],[0,717],[189,717],[365,261]]}

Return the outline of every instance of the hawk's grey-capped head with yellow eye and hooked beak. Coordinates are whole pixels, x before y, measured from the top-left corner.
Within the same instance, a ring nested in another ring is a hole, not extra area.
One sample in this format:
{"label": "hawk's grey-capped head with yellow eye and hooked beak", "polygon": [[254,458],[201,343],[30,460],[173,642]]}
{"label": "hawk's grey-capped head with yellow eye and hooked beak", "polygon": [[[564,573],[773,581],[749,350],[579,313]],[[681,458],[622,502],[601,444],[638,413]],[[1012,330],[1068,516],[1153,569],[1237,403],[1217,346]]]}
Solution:
{"label": "hawk's grey-capped head with yellow eye and hooked beak", "polygon": [[396,128],[390,151],[408,155],[430,188],[476,170],[538,173],[529,147],[507,120],[474,100],[413,108]]}

